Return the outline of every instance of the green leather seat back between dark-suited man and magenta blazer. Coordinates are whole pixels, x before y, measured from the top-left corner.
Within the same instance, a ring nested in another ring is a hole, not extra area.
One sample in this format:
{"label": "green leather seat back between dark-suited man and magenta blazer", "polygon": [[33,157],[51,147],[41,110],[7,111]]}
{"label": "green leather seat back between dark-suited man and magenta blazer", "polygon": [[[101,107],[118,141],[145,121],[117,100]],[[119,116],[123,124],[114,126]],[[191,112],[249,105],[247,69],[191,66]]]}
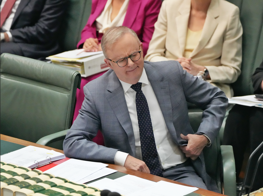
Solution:
{"label": "green leather seat back between dark-suited man and magenta blazer", "polygon": [[62,51],[74,50],[80,34],[87,24],[92,0],[68,0],[67,9],[59,29],[59,43]]}

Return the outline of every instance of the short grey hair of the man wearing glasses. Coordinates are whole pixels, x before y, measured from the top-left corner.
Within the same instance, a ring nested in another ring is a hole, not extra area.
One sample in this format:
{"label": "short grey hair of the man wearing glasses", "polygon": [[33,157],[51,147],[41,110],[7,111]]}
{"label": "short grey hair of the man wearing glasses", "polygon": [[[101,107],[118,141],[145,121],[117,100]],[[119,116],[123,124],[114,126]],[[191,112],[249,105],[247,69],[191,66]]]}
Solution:
{"label": "short grey hair of the man wearing glasses", "polygon": [[105,34],[102,36],[101,39],[101,48],[105,58],[108,58],[108,55],[106,54],[106,50],[110,49],[112,45],[116,41],[118,41],[121,37],[123,37],[126,33],[132,34],[135,37],[135,39],[138,41],[138,43],[139,44],[141,43],[137,34],[132,29],[129,29],[126,26],[110,27],[105,32]]}

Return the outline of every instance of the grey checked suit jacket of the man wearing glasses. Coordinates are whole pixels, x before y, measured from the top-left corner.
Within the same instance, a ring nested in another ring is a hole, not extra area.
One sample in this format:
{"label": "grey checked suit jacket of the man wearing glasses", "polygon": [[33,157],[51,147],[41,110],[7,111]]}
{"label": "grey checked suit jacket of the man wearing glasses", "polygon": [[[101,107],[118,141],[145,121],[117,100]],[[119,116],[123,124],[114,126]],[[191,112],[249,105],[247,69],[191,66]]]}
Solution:
{"label": "grey checked suit jacket of the man wearing glasses", "polygon": [[[177,145],[186,145],[180,134],[194,134],[188,117],[187,101],[204,110],[197,134],[212,141],[223,122],[228,100],[219,88],[185,72],[177,61],[148,62],[144,68],[158,100],[166,126]],[[79,115],[67,132],[63,149],[67,157],[114,163],[116,151],[135,156],[135,139],[121,82],[109,70],[84,87],[85,99]],[[105,146],[92,142],[101,130]],[[203,154],[193,161],[209,185]],[[211,189],[210,189],[211,190]]]}

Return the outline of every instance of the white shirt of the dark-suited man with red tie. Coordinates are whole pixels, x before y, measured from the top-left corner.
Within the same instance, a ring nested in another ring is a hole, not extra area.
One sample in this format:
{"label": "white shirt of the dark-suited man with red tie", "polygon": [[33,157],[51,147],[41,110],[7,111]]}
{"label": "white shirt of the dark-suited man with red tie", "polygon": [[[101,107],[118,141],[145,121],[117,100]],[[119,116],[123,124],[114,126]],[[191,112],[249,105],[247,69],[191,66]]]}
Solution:
{"label": "white shirt of the dark-suited man with red tie", "polygon": [[[2,12],[2,9],[5,5],[7,0],[3,0],[2,3],[1,3],[1,6],[0,6],[0,12]],[[14,16],[15,16],[15,12],[18,8],[18,5],[20,3],[21,0],[17,0],[15,2],[15,4],[13,5],[13,8],[12,8],[12,11],[11,11],[11,14],[10,16],[5,20],[5,22],[3,23],[1,29],[3,29],[4,31],[6,31],[6,33],[8,34],[8,37],[9,37],[9,41],[12,41],[12,34],[10,33],[10,28],[11,28],[11,25],[12,25],[12,22],[13,22],[13,19],[14,19]]]}

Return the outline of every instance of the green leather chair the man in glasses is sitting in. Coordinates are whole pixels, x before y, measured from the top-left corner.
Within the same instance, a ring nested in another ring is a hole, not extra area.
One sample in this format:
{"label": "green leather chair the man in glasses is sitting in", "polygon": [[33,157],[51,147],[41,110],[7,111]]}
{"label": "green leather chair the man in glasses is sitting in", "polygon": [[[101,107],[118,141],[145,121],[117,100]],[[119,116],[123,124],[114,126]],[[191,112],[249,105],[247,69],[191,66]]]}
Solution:
{"label": "green leather chair the man in glasses is sitting in", "polygon": [[[201,112],[188,113],[190,124],[197,132],[202,120]],[[203,150],[206,171],[215,179],[219,190],[224,189],[224,194],[236,196],[236,168],[232,146],[220,146],[219,135],[212,146]]]}

